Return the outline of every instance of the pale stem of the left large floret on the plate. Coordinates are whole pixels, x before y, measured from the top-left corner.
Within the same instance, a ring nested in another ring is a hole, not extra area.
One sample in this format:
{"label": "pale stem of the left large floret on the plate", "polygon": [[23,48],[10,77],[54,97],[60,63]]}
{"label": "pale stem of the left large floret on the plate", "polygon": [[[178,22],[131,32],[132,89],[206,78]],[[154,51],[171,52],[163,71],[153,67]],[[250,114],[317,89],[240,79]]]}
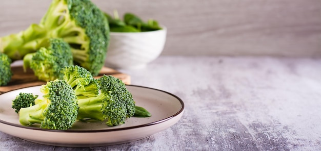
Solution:
{"label": "pale stem of the left large floret on the plate", "polygon": [[[36,100],[35,102],[37,102]],[[43,111],[46,107],[47,104],[39,103],[28,108],[21,108],[19,111],[19,122],[26,126],[41,123],[45,119]]]}

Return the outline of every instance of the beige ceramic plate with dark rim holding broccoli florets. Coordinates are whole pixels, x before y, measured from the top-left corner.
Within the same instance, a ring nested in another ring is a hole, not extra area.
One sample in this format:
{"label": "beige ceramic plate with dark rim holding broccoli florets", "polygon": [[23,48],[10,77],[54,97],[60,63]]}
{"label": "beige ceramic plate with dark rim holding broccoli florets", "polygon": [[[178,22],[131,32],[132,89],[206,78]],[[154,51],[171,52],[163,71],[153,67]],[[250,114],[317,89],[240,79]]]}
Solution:
{"label": "beige ceramic plate with dark rim holding broccoli florets", "polygon": [[174,125],[183,115],[184,103],[177,96],[153,88],[128,85],[137,106],[147,109],[152,116],[130,117],[125,124],[107,127],[103,121],[76,122],[66,131],[46,130],[38,125],[26,127],[11,108],[19,92],[38,94],[40,86],[28,87],[0,95],[0,131],[31,142],[56,146],[104,146],[146,138]]}

